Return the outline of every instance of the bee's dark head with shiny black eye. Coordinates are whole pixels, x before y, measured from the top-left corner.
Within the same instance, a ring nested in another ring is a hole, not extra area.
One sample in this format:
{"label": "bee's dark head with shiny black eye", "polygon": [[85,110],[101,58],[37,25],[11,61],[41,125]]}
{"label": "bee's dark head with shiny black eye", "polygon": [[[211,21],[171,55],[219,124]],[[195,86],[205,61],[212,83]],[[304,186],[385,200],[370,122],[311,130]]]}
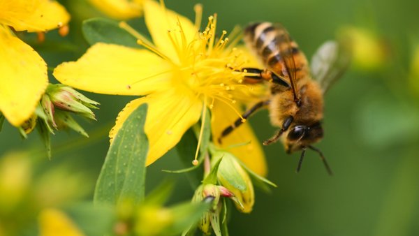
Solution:
{"label": "bee's dark head with shiny black eye", "polygon": [[323,138],[323,128],[320,121],[309,126],[296,124],[288,128],[284,135],[284,145],[287,153],[307,147]]}

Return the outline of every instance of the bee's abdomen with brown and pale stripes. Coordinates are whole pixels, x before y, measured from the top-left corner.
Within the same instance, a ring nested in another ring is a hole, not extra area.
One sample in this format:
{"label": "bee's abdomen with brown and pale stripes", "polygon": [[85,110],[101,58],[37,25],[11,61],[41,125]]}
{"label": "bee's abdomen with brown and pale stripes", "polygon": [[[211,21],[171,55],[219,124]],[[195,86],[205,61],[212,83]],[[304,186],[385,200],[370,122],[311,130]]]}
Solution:
{"label": "bee's abdomen with brown and pale stripes", "polygon": [[270,22],[251,24],[244,31],[244,42],[274,73],[288,77],[287,70],[295,70],[294,80],[309,75],[306,57],[284,27]]}

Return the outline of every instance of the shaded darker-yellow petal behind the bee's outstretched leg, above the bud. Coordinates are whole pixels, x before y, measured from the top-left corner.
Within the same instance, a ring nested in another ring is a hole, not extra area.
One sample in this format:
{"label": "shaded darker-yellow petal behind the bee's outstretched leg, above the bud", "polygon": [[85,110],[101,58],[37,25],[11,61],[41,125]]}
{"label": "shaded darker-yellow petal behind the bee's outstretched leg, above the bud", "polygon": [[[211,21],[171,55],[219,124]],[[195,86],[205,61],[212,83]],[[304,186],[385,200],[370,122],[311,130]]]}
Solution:
{"label": "shaded darker-yellow petal behind the bee's outstretched leg, above the bud", "polygon": [[[237,110],[240,110],[236,106]],[[216,102],[212,108],[212,137],[217,143],[218,138],[225,128],[234,124],[238,115],[225,103]],[[244,123],[224,137],[221,147],[239,145],[249,142],[247,145],[240,145],[229,149],[228,151],[240,158],[241,161],[258,175],[265,176],[267,168],[265,163],[265,154],[260,146],[260,141],[256,138],[249,123]]]}

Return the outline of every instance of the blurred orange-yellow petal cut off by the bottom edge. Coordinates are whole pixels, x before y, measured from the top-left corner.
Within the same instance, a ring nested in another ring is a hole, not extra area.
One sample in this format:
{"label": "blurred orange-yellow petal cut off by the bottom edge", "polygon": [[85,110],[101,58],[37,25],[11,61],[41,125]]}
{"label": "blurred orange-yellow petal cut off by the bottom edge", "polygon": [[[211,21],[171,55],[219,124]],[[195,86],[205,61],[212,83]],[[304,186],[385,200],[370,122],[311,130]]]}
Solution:
{"label": "blurred orange-yellow petal cut off by the bottom edge", "polygon": [[82,236],[84,233],[58,209],[44,209],[39,216],[41,236]]}

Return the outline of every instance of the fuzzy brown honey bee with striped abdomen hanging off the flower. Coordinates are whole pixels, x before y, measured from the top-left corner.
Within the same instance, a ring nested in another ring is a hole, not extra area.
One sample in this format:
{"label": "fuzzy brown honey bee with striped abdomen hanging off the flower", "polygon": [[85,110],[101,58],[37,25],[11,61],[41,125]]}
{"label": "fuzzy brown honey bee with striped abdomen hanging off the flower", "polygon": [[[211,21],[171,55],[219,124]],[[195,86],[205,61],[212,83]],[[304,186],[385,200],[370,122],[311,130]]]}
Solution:
{"label": "fuzzy brown honey bee with striped abdomen hanging off the flower", "polygon": [[[307,148],[312,149],[332,175],[323,153],[312,144],[323,138],[323,94],[348,66],[348,50],[344,50],[343,44],[328,41],[314,55],[310,69],[304,53],[291,40],[286,29],[270,22],[249,25],[244,31],[244,43],[265,66],[265,69],[244,68],[248,75],[244,81],[268,82],[270,96],[253,105],[242,117],[247,119],[256,110],[267,108],[272,125],[279,129],[263,145],[280,140],[288,154],[302,150],[297,172]],[[224,129],[221,138],[240,126],[242,120],[239,118]]]}

